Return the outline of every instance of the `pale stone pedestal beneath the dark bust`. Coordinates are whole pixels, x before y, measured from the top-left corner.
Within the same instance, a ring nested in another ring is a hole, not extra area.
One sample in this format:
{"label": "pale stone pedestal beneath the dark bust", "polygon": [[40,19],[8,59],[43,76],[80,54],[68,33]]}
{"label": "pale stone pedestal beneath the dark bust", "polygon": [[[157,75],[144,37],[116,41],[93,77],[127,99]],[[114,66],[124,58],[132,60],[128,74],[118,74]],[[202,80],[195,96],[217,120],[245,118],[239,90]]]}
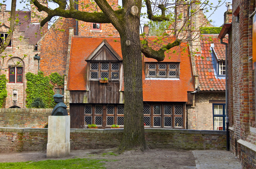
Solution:
{"label": "pale stone pedestal beneath the dark bust", "polygon": [[46,157],[70,154],[70,116],[49,116]]}

